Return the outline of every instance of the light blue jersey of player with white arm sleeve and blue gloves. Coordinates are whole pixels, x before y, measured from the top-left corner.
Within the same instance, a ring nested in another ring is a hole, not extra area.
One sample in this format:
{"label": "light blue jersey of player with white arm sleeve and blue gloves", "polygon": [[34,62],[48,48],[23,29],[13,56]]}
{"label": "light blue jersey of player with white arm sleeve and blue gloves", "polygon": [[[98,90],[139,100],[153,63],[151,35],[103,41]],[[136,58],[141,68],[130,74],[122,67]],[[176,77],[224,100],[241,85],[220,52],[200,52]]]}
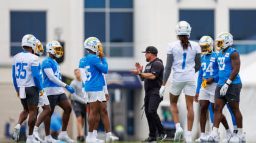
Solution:
{"label": "light blue jersey of player with white arm sleeve and blue gloves", "polygon": [[62,75],[60,74],[60,66],[59,64],[52,58],[48,57],[44,59],[42,62],[42,70],[43,70],[43,87],[60,87],[60,85],[55,84],[52,82],[46,73],[44,73],[45,68],[52,68],[54,76],[56,76],[60,81],[62,81]]}

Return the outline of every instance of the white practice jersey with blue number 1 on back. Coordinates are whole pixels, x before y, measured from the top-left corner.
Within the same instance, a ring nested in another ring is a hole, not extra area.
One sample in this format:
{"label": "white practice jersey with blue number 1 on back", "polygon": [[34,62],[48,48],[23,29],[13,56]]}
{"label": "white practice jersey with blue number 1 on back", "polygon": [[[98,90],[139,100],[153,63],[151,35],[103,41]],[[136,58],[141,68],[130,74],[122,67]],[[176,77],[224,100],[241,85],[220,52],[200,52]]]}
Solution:
{"label": "white practice jersey with blue number 1 on back", "polygon": [[197,42],[190,41],[191,47],[188,50],[183,50],[180,41],[171,42],[167,47],[167,54],[172,54],[172,70],[174,82],[195,81],[195,62],[194,59],[197,53],[201,53],[200,45]]}

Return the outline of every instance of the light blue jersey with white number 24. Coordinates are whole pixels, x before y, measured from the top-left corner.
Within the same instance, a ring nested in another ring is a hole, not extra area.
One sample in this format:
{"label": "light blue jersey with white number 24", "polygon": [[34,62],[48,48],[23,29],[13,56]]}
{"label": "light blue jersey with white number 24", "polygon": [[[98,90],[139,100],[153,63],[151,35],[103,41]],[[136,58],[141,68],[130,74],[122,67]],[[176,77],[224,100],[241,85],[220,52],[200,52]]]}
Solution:
{"label": "light blue jersey with white number 24", "polygon": [[198,73],[196,93],[199,93],[202,84],[202,78],[214,78],[214,82],[218,83],[218,53],[213,52],[211,55],[203,55],[201,58],[201,69]]}

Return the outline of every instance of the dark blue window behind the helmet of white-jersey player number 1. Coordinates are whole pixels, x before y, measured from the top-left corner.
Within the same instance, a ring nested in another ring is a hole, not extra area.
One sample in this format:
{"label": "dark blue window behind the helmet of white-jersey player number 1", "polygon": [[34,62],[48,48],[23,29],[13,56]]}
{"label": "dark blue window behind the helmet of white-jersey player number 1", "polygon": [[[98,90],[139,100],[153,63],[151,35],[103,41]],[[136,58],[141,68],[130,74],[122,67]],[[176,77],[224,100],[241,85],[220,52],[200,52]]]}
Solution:
{"label": "dark blue window behind the helmet of white-jersey player number 1", "polygon": [[199,40],[204,35],[215,38],[214,10],[180,10],[180,21],[187,21],[192,27],[192,40]]}

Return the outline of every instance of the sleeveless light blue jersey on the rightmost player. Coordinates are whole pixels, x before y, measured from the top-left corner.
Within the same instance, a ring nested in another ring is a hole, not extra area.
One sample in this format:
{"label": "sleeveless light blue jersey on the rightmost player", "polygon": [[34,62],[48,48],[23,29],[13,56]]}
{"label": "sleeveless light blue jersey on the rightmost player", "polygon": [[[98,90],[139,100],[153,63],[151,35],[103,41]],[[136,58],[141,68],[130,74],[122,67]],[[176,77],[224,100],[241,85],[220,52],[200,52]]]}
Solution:
{"label": "sleeveless light blue jersey on the rightmost player", "polygon": [[[219,52],[218,56],[218,65],[219,65],[219,85],[224,85],[225,81],[229,79],[230,73],[232,72],[233,68],[231,65],[231,58],[230,55],[233,52],[238,52],[235,48],[229,47],[225,53]],[[236,76],[235,80],[231,84],[239,84],[241,83],[241,79],[239,74]]]}

